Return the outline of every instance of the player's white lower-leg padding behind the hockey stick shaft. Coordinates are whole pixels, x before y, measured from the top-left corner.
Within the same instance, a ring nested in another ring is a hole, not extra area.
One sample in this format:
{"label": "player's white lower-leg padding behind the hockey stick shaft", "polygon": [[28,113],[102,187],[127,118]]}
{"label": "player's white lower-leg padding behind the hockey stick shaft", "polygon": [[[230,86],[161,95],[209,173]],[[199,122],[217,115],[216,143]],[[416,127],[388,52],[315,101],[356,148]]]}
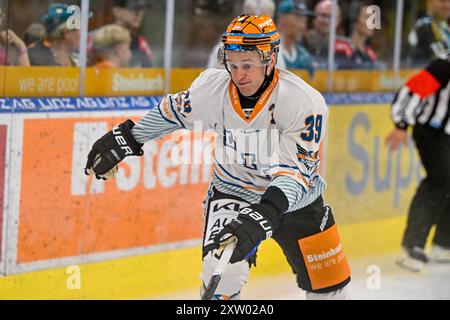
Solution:
{"label": "player's white lower-leg padding behind the hockey stick shaft", "polygon": [[[209,283],[211,276],[217,266],[219,259],[212,253],[207,254],[203,258],[202,273],[200,279],[202,280],[201,295]],[[217,286],[214,299],[216,300],[238,300],[240,299],[240,292],[244,284],[247,282],[250,266],[247,261],[240,261],[233,264],[228,264],[222,279]]]}

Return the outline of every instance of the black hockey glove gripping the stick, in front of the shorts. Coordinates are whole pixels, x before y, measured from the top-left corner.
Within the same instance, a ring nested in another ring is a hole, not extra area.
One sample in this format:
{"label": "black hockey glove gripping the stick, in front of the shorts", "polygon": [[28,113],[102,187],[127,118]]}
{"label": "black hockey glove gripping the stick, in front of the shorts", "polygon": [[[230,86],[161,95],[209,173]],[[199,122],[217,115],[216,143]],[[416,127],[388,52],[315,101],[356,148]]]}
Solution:
{"label": "black hockey glove gripping the stick, in front of the shorts", "polygon": [[236,263],[250,258],[255,254],[261,241],[272,236],[278,227],[278,218],[271,208],[255,204],[239,211],[236,220],[231,221],[214,237],[213,248],[219,248],[227,243],[230,237],[237,238],[236,248],[230,263]]}

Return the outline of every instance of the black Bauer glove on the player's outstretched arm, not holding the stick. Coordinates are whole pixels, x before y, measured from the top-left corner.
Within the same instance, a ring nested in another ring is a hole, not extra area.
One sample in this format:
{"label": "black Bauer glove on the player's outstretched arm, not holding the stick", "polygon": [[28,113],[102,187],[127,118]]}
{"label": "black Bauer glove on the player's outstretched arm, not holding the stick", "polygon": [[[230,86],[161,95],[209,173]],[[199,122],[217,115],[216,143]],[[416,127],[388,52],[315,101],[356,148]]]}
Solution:
{"label": "black Bauer glove on the player's outstretched arm, not holding the stick", "polygon": [[97,179],[106,180],[125,157],[143,155],[143,144],[131,134],[133,127],[134,122],[126,120],[98,139],[89,152],[84,172],[89,175],[92,169]]}

